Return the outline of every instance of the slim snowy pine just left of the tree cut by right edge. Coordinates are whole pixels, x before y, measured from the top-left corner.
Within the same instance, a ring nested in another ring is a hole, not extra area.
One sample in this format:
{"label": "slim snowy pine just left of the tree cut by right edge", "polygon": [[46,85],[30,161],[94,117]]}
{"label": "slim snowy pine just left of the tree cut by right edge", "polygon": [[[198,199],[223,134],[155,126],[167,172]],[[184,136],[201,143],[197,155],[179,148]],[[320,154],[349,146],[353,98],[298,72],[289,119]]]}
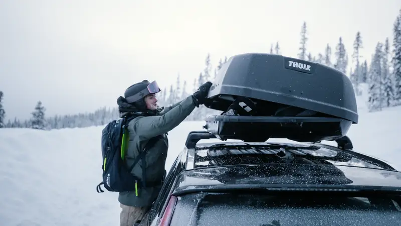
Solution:
{"label": "slim snowy pine just left of the tree cut by right edge", "polygon": [[385,104],[389,107],[394,100],[394,84],[393,79],[389,71],[388,65],[388,56],[390,54],[390,46],[388,43],[388,38],[386,38],[384,43],[384,51],[382,55],[382,75],[383,75],[383,98],[385,100]]}

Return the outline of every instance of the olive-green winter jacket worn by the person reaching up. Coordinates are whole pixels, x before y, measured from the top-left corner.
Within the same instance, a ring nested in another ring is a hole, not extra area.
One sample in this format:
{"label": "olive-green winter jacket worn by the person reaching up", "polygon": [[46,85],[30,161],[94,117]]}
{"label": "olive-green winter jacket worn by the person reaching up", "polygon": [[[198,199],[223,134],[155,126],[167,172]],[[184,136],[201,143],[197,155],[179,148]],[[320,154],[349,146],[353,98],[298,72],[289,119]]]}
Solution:
{"label": "olive-green winter jacket worn by the person reaching up", "polygon": [[[128,169],[135,161],[135,157],[144,149],[146,142],[153,137],[158,136],[158,138],[146,153],[146,187],[138,186],[138,196],[135,191],[120,192],[118,201],[121,204],[138,207],[152,205],[161,189],[160,182],[165,173],[164,165],[168,149],[166,133],[184,121],[194,108],[193,98],[188,96],[181,102],[164,108],[157,116],[139,116],[129,122],[129,142],[125,154]],[[131,173],[142,180],[141,162],[136,164]]]}

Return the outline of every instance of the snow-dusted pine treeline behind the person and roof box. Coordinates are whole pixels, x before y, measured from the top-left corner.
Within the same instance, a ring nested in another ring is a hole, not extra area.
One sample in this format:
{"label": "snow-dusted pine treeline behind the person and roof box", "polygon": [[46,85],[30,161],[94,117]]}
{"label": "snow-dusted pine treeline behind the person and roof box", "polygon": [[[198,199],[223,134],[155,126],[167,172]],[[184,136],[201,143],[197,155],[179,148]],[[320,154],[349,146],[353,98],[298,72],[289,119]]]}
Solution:
{"label": "snow-dusted pine treeline behind the person and roof box", "polygon": [[[338,37],[338,43],[335,45],[334,50],[327,44],[321,53],[312,55],[307,49],[308,37],[305,22],[301,28],[299,44],[297,58],[323,64],[347,74],[352,81],[356,95],[362,95],[360,87],[362,84],[367,84],[367,93],[364,94],[368,96],[367,104],[370,111],[401,104],[401,10],[393,23],[392,43],[390,44],[388,37],[385,40],[378,41],[369,63],[368,58],[360,54],[360,50],[363,48],[363,41],[362,34],[359,31],[356,32],[353,40],[350,57],[341,36]],[[271,44],[270,53],[285,55],[281,53],[279,42]],[[205,58],[204,70],[193,79],[191,84],[188,84],[186,80],[181,80],[178,74],[175,84],[164,87],[162,92],[158,94],[159,104],[166,106],[185,98],[190,94],[187,93],[188,86],[191,86],[191,92],[194,92],[199,85],[208,80],[213,80],[219,69],[226,62],[227,57],[221,58],[219,64],[213,68],[211,56],[208,54]],[[349,70],[346,71],[348,66]],[[87,114],[46,117],[46,108],[41,101],[38,101],[30,120],[20,121],[15,118],[14,121],[5,122],[6,111],[2,105],[3,94],[0,91],[0,128],[19,127],[42,130],[82,128],[105,125],[110,120],[118,119],[119,117],[117,107],[103,107]],[[220,113],[220,111],[201,106],[196,108],[186,120],[202,121],[208,115],[218,115]]]}

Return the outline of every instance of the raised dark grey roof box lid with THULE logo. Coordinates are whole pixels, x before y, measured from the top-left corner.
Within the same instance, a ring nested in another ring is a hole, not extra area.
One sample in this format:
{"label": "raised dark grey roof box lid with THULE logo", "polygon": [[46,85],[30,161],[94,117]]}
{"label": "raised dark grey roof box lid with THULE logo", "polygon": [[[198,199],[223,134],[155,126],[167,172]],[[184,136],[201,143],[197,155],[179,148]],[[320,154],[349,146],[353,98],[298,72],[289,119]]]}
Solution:
{"label": "raised dark grey roof box lid with THULE logo", "polygon": [[209,108],[226,111],[238,96],[248,97],[259,115],[277,116],[285,106],[358,123],[355,93],[342,72],[281,55],[247,53],[230,57],[210,89]]}

